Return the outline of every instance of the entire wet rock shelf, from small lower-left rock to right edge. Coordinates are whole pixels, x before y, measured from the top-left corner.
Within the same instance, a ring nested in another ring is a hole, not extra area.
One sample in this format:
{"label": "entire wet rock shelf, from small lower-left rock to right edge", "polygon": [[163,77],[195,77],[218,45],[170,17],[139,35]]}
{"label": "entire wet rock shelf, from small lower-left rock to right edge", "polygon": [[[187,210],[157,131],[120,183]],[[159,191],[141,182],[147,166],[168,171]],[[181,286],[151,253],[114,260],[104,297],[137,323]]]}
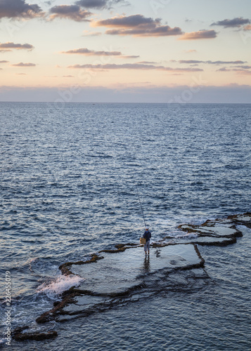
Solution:
{"label": "entire wet rock shelf, from small lower-left rock to right edge", "polygon": [[[207,220],[202,225],[180,225],[179,230],[193,234],[192,237],[153,243],[150,256],[145,257],[142,245],[129,243],[95,253],[86,261],[64,263],[59,267],[61,272],[82,277],[81,285],[64,291],[53,308],[36,322],[67,322],[157,293],[202,289],[211,279],[203,268],[205,260],[198,246],[236,243],[236,238],[242,236],[236,225],[251,227],[251,213]],[[44,340],[56,335],[56,331],[31,333],[25,326],[16,329],[13,337],[19,341]]]}

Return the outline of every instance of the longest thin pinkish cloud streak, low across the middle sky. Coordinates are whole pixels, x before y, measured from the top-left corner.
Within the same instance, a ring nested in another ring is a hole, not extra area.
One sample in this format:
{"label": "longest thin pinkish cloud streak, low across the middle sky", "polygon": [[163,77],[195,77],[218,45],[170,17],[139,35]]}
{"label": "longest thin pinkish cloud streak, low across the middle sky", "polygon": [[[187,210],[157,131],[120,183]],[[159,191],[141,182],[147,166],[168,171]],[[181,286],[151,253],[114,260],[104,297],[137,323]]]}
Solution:
{"label": "longest thin pinkish cloud streak, low across the middle sky", "polygon": [[77,68],[77,69],[139,69],[139,70],[151,70],[155,69],[157,71],[168,71],[168,72],[202,72],[203,69],[200,68],[172,68],[164,66],[155,66],[155,65],[145,65],[142,63],[124,63],[123,65],[116,64],[106,64],[106,65],[73,65],[68,68]]}

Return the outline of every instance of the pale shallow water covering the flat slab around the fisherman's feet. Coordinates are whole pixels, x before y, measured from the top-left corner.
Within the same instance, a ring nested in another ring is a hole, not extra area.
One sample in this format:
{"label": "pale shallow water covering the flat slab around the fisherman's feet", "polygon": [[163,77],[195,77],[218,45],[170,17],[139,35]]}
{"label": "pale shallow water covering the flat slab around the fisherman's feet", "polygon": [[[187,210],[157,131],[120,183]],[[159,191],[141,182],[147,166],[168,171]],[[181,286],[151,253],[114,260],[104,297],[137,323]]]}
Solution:
{"label": "pale shallow water covering the flat slab around the fisherman's feet", "polygon": [[145,257],[142,247],[119,253],[102,253],[103,259],[91,265],[72,265],[71,271],[84,278],[79,289],[98,294],[120,293],[141,283],[141,276],[157,270],[198,265],[194,246],[165,246],[151,250]]}

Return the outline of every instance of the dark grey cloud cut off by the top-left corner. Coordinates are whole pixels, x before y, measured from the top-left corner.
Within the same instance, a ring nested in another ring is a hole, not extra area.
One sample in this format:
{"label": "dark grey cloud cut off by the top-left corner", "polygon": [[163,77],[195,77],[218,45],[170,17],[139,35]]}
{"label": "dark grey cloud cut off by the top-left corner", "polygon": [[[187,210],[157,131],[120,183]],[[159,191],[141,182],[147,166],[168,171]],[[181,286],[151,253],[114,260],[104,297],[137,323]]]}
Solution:
{"label": "dark grey cloud cut off by the top-left corner", "polygon": [[12,18],[22,20],[23,18],[36,18],[43,16],[44,13],[37,4],[27,4],[25,0],[1,0],[0,19]]}

